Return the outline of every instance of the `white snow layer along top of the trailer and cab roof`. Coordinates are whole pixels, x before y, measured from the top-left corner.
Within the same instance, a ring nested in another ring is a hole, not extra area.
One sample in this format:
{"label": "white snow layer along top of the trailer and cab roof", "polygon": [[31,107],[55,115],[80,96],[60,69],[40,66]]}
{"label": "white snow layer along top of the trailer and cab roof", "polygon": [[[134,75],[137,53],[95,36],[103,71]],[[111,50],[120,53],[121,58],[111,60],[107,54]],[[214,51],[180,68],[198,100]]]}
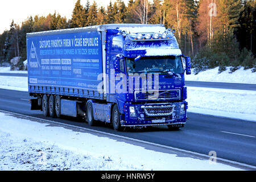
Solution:
{"label": "white snow layer along top of the trailer and cab roof", "polygon": [[121,24],[120,23],[120,24],[101,24],[96,26],[80,27],[80,28],[67,28],[62,30],[32,32],[32,33],[27,33],[27,36],[58,34],[58,33],[77,32],[77,31],[105,31],[107,29],[119,29],[122,31],[126,31],[128,34],[135,34],[135,33],[142,33],[142,32],[163,33],[166,30],[166,28],[164,27],[164,24],[135,24],[135,23]]}

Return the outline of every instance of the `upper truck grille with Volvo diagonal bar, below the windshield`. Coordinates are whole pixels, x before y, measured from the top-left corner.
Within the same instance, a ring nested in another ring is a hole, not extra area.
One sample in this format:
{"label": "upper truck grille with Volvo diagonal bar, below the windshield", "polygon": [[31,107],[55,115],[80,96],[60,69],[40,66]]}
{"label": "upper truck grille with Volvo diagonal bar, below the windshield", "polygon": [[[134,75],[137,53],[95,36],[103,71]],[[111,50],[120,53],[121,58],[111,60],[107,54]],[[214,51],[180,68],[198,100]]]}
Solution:
{"label": "upper truck grille with Volvo diagonal bar, below the windshield", "polygon": [[[155,91],[156,92],[156,91]],[[158,94],[143,93],[141,91],[135,91],[136,100],[167,100],[167,99],[180,99],[180,90],[159,90]]]}

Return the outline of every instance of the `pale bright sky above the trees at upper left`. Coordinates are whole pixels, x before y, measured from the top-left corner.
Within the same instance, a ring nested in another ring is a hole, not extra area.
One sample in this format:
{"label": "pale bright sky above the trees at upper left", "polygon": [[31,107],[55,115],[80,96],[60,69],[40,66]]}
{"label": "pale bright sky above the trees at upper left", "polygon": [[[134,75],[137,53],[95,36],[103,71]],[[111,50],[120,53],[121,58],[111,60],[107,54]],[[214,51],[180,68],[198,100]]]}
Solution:
{"label": "pale bright sky above the trees at upper left", "polygon": [[[61,16],[66,16],[71,19],[72,11],[77,0],[1,0],[0,1],[0,34],[3,31],[9,30],[11,21],[21,24],[30,15],[46,16],[49,13],[59,13]],[[93,0],[89,0],[90,4]],[[112,0],[114,2],[115,0]],[[97,0],[98,6],[107,6],[110,0]],[[124,0],[126,3],[128,0]],[[86,0],[81,0],[81,5],[86,5]]]}

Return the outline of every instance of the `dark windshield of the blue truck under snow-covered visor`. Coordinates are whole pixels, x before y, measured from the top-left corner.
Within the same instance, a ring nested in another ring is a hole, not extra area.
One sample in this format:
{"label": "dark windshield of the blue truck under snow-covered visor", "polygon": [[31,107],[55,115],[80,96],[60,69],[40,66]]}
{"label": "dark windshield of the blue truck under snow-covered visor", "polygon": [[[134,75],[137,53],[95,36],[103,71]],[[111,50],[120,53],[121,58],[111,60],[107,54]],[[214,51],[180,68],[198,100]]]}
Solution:
{"label": "dark windshield of the blue truck under snow-covered visor", "polygon": [[126,72],[129,73],[160,73],[166,72],[183,73],[183,65],[180,56],[154,56],[141,57],[134,61],[134,58],[126,58]]}

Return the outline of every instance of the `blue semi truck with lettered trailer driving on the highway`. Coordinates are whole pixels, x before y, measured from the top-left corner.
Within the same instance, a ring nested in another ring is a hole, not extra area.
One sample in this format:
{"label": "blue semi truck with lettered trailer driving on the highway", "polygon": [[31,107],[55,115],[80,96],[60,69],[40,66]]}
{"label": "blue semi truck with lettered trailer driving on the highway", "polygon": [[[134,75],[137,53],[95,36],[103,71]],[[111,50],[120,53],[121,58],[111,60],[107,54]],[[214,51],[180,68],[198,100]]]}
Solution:
{"label": "blue semi truck with lettered trailer driving on the highway", "polygon": [[104,24],[27,34],[31,110],[122,127],[183,127],[190,58],[163,24]]}

